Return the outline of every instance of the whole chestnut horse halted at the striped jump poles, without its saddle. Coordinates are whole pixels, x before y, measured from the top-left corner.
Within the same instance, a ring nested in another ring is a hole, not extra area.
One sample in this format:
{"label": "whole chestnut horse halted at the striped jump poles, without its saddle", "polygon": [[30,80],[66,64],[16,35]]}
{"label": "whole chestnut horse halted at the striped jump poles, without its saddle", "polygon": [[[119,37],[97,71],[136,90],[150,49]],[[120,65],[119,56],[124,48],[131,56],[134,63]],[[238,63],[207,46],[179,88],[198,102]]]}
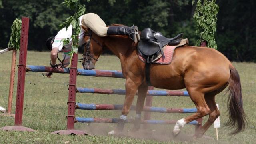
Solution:
{"label": "whole chestnut horse halted at the striped jump poles, without its saddle", "polygon": [[[86,46],[84,49],[85,69],[94,68],[94,64],[107,48],[116,55],[121,62],[122,73],[126,78],[126,96],[122,115],[117,128],[109,132],[116,134],[124,128],[126,116],[138,90],[136,104],[136,120],[133,130],[140,127],[140,116],[143,109],[148,85],[145,80],[145,63],[138,58],[138,51],[128,36],[112,35],[106,37],[97,36],[91,30],[86,29],[84,37]],[[231,62],[220,52],[212,48],[181,46],[175,49],[172,62],[167,65],[151,64],[150,81],[156,88],[169,90],[186,88],[191,100],[197,108],[197,112],[182,118],[176,122],[173,134],[177,135],[188,122],[209,115],[207,122],[200,128],[195,138],[200,138],[220,116],[216,107],[215,96],[228,87],[228,125],[236,129],[231,134],[244,130],[246,115],[243,110],[240,77]]]}

